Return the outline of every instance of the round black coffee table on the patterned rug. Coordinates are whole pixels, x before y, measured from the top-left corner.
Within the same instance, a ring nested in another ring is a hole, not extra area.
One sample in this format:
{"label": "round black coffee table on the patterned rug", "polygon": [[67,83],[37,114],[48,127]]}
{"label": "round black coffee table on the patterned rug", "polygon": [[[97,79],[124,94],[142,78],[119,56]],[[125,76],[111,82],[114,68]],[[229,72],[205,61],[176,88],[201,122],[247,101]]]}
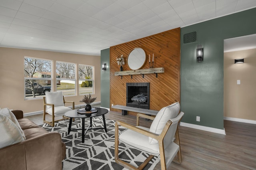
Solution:
{"label": "round black coffee table on the patterned rug", "polygon": [[[104,109],[104,108],[97,108],[97,109],[98,109],[98,111],[96,113],[89,113],[89,114],[78,114],[77,109],[66,112],[65,116],[70,118],[69,125],[68,125],[68,134],[70,133],[71,130],[81,130],[81,129],[71,129],[73,118],[82,119],[82,143],[84,143],[84,136],[89,129],[94,129],[94,130],[105,129],[105,132],[107,132],[106,121],[105,121],[104,115],[106,113],[108,113],[108,109]],[[92,128],[92,117],[96,117],[96,116],[102,116],[104,128]],[[85,118],[90,118],[90,125],[87,127],[86,131],[84,132],[84,128],[85,128],[84,127],[84,122],[85,122],[84,119]]]}

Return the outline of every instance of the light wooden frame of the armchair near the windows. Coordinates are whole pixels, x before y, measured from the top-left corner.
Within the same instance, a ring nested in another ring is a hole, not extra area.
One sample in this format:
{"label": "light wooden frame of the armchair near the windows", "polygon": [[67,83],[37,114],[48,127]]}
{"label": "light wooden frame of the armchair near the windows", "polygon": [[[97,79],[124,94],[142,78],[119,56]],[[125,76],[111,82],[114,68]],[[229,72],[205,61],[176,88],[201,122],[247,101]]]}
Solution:
{"label": "light wooden frame of the armchair near the windows", "polygon": [[[68,117],[65,117],[63,115],[62,119],[54,120],[54,118],[55,118],[55,115],[54,115],[54,104],[46,103],[45,97],[43,97],[43,101],[44,101],[44,115],[43,115],[44,123],[47,123],[51,127],[54,127],[54,123],[55,122],[62,121],[64,119],[69,119]],[[64,105],[65,105],[65,103],[72,103],[72,109],[73,110],[75,109],[75,102],[74,101],[65,101],[64,96],[63,96],[63,101],[64,101]],[[46,121],[46,119],[45,119],[46,115],[49,114],[49,113],[46,112],[46,106],[51,106],[52,107],[52,121]]]}

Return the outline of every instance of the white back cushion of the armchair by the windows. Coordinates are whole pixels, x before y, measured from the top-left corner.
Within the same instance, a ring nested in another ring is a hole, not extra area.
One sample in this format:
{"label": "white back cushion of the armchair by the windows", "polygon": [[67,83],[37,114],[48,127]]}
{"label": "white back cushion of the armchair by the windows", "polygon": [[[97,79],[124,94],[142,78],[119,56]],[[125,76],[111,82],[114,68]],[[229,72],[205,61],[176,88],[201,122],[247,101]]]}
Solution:
{"label": "white back cushion of the armchair by the windows", "polygon": [[[54,104],[54,107],[64,106],[62,91],[46,92],[45,99],[46,99],[46,103]],[[47,106],[47,109],[50,109],[50,108],[51,108],[51,106]]]}

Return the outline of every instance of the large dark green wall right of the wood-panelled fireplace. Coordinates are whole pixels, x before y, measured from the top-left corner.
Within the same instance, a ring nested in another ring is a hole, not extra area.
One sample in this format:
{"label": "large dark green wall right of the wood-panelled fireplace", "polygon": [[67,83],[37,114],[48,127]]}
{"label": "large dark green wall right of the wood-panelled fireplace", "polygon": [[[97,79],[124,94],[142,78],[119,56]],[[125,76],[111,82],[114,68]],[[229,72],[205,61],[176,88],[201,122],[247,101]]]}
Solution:
{"label": "large dark green wall right of the wood-panelled fireplace", "polygon": [[[197,31],[198,41],[184,44],[183,35],[193,31]],[[256,8],[181,28],[182,122],[224,128],[224,39],[250,34],[256,34]],[[197,45],[204,47],[202,63],[196,63]],[[200,116],[200,122],[196,116]]]}

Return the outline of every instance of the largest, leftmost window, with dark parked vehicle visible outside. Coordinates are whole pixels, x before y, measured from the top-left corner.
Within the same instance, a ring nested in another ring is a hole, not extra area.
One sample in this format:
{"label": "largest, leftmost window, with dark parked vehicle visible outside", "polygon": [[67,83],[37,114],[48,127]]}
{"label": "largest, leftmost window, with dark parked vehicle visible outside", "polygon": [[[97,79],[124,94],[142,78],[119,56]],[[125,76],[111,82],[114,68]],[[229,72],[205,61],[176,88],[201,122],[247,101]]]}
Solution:
{"label": "largest, leftmost window, with dark parked vehicle visible outside", "polygon": [[[44,77],[49,75],[48,77]],[[52,61],[24,57],[25,99],[42,97],[51,91]]]}

